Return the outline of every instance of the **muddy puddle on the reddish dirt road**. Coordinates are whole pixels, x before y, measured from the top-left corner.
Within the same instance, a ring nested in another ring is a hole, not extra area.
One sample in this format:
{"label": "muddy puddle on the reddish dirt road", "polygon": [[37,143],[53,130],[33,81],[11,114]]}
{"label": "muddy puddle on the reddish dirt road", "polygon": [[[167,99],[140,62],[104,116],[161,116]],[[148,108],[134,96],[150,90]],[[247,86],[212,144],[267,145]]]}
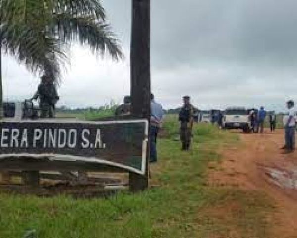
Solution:
{"label": "muddy puddle on the reddish dirt road", "polygon": [[262,167],[266,178],[282,189],[297,190],[297,168],[285,170],[280,168]]}

